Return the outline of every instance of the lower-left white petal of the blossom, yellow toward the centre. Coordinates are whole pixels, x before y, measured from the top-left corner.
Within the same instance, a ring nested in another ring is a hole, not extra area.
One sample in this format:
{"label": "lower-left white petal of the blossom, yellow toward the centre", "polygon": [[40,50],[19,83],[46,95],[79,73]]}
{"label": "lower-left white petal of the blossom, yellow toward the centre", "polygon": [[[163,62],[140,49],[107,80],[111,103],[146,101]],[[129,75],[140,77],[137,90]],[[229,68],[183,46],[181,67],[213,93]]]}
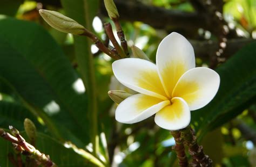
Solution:
{"label": "lower-left white petal of the blossom, yellow toward the centre", "polygon": [[139,93],[130,96],[117,106],[116,120],[125,124],[133,124],[151,117],[169,104],[169,100],[163,101]]}

